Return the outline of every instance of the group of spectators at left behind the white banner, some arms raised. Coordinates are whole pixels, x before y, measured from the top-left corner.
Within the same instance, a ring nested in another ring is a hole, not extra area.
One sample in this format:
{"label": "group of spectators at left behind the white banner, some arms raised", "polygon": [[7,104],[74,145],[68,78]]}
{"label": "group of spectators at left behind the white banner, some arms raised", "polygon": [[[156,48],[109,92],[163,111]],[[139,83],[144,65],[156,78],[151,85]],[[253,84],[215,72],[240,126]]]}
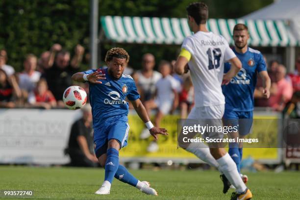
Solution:
{"label": "group of spectators at left behind the white banner, some arms raised", "polygon": [[71,76],[79,70],[84,48],[75,47],[73,58],[61,45],[54,44],[38,58],[28,54],[23,71],[7,64],[6,50],[0,50],[0,107],[63,108],[62,95],[72,85]]}

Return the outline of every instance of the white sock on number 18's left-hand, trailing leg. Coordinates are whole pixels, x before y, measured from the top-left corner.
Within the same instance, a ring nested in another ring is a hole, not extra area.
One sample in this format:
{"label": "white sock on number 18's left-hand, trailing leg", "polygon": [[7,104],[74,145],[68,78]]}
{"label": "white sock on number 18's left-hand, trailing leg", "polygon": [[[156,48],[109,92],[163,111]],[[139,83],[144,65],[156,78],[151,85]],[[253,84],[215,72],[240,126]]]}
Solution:
{"label": "white sock on number 18's left-hand, trailing leg", "polygon": [[203,143],[194,143],[193,142],[188,146],[188,148],[186,148],[186,150],[191,152],[191,153],[194,153],[202,161],[204,161],[204,162],[208,163],[209,165],[219,169],[218,162],[210,154],[209,148],[205,144],[203,144]]}

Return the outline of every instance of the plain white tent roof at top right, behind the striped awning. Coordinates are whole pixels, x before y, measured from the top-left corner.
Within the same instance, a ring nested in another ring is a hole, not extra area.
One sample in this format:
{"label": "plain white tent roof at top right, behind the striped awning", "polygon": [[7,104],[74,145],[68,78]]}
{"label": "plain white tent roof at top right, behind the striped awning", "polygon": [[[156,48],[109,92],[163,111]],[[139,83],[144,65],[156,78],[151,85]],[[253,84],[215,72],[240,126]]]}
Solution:
{"label": "plain white tent roof at top right, behind the striped awning", "polygon": [[291,31],[300,40],[300,0],[277,0],[243,17],[246,20],[287,20]]}

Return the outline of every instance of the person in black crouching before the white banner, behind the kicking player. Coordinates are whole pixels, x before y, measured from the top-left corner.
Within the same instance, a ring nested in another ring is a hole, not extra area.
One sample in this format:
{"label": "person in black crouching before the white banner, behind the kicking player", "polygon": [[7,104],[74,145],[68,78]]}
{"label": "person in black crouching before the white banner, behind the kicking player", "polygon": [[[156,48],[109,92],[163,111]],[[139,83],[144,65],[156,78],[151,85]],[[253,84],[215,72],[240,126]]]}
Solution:
{"label": "person in black crouching before the white banner, behind the kicking player", "polygon": [[92,109],[89,104],[86,104],[81,110],[82,118],[72,125],[66,151],[70,155],[72,166],[97,167],[98,159],[94,152],[92,129]]}

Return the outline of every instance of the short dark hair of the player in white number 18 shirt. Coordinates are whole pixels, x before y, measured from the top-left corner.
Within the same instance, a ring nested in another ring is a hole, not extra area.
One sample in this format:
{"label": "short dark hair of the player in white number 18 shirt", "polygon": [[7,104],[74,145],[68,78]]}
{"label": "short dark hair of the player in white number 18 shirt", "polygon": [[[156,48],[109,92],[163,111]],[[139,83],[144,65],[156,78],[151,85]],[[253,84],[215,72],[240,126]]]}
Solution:
{"label": "short dark hair of the player in white number 18 shirt", "polygon": [[205,24],[208,19],[208,6],[202,2],[194,2],[187,6],[186,11],[193,17],[197,25]]}

